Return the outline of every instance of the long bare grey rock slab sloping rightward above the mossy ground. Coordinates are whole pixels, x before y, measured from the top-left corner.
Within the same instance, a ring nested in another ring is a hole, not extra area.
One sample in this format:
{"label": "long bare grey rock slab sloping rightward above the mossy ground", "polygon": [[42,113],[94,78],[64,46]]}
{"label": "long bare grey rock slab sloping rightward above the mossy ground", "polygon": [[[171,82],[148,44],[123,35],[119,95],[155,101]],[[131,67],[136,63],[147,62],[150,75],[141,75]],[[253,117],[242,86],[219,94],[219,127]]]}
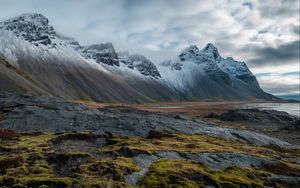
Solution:
{"label": "long bare grey rock slab sloping rightward above the mossy ground", "polygon": [[221,128],[203,121],[176,118],[173,114],[146,112],[133,108],[92,109],[82,104],[58,98],[0,95],[0,111],[4,112],[2,128],[17,132],[91,131],[125,136],[147,137],[149,131],[186,134],[207,134],[224,139],[236,139],[256,145],[294,147],[289,143],[259,133]]}

